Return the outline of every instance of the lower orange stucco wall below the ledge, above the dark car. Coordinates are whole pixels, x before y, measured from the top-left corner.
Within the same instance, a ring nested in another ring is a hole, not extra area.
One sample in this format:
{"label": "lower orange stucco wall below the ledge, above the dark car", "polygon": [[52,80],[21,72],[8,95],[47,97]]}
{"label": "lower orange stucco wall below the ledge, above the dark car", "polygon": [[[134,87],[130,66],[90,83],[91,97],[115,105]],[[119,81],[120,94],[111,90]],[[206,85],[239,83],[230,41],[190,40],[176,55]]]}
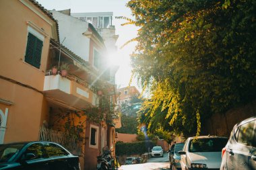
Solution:
{"label": "lower orange stucco wall below the ledge, above the dark car", "polygon": [[43,95],[32,89],[0,79],[0,96],[13,102],[9,108],[4,142],[38,140]]}

